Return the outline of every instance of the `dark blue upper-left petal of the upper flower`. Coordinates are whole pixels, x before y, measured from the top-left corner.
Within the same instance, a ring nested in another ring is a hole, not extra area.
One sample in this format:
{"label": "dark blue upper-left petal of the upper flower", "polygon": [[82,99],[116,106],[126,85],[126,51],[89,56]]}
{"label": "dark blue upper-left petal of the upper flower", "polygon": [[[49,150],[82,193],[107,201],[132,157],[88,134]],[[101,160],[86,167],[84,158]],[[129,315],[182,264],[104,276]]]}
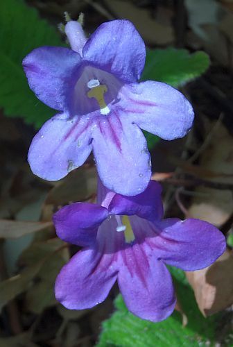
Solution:
{"label": "dark blue upper-left petal of the upper flower", "polygon": [[29,53],[23,66],[37,98],[55,110],[64,111],[69,109],[80,62],[80,55],[72,49],[44,46]]}

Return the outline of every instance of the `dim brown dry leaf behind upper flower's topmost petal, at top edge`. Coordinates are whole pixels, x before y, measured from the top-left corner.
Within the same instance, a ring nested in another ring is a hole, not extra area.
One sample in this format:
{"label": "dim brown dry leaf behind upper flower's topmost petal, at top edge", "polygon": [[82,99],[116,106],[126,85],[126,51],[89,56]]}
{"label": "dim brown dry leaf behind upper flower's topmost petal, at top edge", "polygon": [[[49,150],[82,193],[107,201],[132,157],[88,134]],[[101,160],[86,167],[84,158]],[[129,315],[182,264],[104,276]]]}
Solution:
{"label": "dim brown dry leaf behind upper flower's topmost petal, at top edge", "polygon": [[139,8],[129,1],[104,0],[107,7],[118,18],[129,19],[147,44],[171,44],[174,41],[172,26],[156,22],[146,8]]}

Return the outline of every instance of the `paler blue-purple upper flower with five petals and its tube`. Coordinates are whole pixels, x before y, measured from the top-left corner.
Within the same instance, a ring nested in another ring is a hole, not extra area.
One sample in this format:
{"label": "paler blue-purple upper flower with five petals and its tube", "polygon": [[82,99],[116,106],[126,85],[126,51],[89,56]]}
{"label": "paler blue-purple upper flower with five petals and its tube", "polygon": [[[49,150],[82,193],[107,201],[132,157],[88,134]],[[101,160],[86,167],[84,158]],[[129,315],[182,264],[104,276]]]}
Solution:
{"label": "paler blue-purple upper flower with five petals and its tube", "polygon": [[23,61],[38,99],[59,111],[33,139],[31,169],[46,180],[59,180],[93,150],[103,184],[137,195],[151,175],[141,129],[168,140],[183,137],[193,109],[165,83],[138,83],[146,51],[132,23],[103,23],[88,40],[78,22],[67,23],[65,31],[72,49],[44,46]]}

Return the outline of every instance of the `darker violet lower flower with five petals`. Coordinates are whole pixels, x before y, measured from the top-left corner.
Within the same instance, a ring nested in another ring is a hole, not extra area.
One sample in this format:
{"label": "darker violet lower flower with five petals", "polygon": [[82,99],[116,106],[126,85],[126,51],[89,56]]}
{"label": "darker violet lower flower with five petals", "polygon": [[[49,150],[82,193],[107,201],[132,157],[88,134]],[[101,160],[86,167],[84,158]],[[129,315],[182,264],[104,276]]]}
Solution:
{"label": "darker violet lower flower with five petals", "polygon": [[101,189],[101,205],[73,203],[54,215],[58,237],[84,246],[60,271],[55,296],[68,309],[90,308],[105,300],[117,279],[128,310],[150,321],[166,319],[175,307],[166,264],[205,268],[225,250],[225,237],[198,219],[162,220],[155,181],[133,197]]}

